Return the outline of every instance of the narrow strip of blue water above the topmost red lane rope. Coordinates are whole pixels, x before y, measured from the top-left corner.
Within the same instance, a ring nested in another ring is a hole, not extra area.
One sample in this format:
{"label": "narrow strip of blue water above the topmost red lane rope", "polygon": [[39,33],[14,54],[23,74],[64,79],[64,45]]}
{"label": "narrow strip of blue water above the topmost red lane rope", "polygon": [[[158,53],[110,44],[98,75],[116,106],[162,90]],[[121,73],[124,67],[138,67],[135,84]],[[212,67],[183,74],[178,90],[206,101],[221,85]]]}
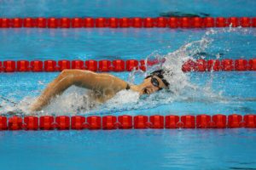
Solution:
{"label": "narrow strip of blue water above the topmost red lane rope", "polygon": [[255,16],[256,2],[251,0],[96,0],[69,1],[2,0],[0,11],[4,17],[156,17],[160,14],[176,12],[177,14],[209,14],[211,16]]}

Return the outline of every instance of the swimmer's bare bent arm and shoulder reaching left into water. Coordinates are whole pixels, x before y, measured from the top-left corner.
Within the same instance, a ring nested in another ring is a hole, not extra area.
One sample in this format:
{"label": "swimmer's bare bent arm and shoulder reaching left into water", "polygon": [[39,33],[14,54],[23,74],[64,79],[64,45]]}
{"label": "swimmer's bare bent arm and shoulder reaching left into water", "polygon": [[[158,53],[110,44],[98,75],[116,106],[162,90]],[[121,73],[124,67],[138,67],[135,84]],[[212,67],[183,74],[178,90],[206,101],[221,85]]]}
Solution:
{"label": "swimmer's bare bent arm and shoulder reaching left into water", "polygon": [[114,94],[127,87],[127,82],[113,77],[106,73],[96,73],[92,71],[64,70],[50,82],[44,92],[32,104],[31,111],[40,111],[45,105],[49,105],[50,99],[62,94],[67,88],[75,85],[80,88],[87,88],[96,94],[106,95],[108,99]]}

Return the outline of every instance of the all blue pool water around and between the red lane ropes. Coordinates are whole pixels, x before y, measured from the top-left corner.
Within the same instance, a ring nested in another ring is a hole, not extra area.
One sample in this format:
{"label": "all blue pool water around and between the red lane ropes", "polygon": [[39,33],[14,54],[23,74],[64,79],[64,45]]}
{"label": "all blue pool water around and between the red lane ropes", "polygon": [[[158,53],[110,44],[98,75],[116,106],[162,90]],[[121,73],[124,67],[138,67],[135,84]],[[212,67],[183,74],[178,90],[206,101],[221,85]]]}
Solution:
{"label": "all blue pool water around and between the red lane ropes", "polygon": [[[155,17],[168,12],[226,17],[256,15],[254,1],[238,0],[73,1],[72,8],[67,1],[0,2],[4,17]],[[173,62],[189,56],[252,59],[256,54],[255,37],[254,28],[0,29],[0,60],[151,59],[156,56]],[[0,95],[19,102],[18,109],[24,111],[57,75],[57,72],[0,73]],[[145,76],[141,72],[134,76],[127,72],[113,75],[134,83],[141,82]],[[178,76],[183,79],[172,85],[177,95],[162,91],[137,99],[128,93],[125,96],[129,99],[124,99],[120,94],[93,110],[77,111],[83,105],[79,101],[84,90],[71,88],[49,105],[44,114],[256,113],[256,73],[253,71],[193,72]],[[13,105],[4,100],[0,100],[0,105],[3,106],[0,114],[15,111]],[[256,169],[255,146],[256,131],[244,128],[0,132],[0,166],[1,169]]]}

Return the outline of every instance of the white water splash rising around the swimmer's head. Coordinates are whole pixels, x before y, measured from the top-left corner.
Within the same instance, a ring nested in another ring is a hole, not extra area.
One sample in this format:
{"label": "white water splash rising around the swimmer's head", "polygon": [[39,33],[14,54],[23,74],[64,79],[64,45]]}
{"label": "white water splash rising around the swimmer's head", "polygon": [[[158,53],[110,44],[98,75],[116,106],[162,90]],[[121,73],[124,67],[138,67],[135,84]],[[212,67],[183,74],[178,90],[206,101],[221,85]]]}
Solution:
{"label": "white water splash rising around the swimmer's head", "polygon": [[[206,35],[212,33],[215,32],[210,30],[210,33],[208,32]],[[201,94],[216,96],[215,93],[212,93],[211,88],[209,88],[211,84],[208,84],[208,87],[206,88],[200,88],[189,81],[188,73],[184,73],[182,71],[183,63],[188,59],[193,59],[195,54],[205,51],[211,42],[212,39],[206,36],[202,37],[199,41],[189,42],[181,48],[178,48],[176,51],[166,55],[160,55],[156,52],[150,54],[148,59],[154,58],[159,61],[165,60],[165,62],[160,62],[159,65],[154,65],[148,68],[144,73],[144,76],[148,75],[150,71],[154,71],[156,69],[162,68],[166,70],[165,77],[171,84],[170,90],[163,90],[141,98],[139,98],[138,94],[135,94],[134,92],[121,91],[113,99],[110,99],[102,107],[98,108],[96,112],[105,113],[109,111],[134,111],[154,108],[156,106],[170,104],[176,100],[193,100],[195,99],[195,96],[199,94],[199,91],[201,91]],[[129,82],[134,82],[136,76],[137,71],[131,71]],[[140,75],[140,77],[141,76],[142,75]]]}

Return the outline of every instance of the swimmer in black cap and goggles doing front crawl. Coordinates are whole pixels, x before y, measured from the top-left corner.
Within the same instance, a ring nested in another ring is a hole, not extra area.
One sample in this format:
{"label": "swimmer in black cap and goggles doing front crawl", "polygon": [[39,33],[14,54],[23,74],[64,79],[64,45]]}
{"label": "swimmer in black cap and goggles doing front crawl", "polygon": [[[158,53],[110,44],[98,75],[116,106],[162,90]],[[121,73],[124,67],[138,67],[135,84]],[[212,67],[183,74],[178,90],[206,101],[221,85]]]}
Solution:
{"label": "swimmer in black cap and goggles doing front crawl", "polygon": [[51,99],[62,94],[67,88],[73,85],[79,88],[89,89],[90,98],[98,103],[106,102],[121,90],[131,89],[140,95],[153,94],[163,88],[169,88],[169,83],[166,81],[164,73],[164,70],[154,71],[148,77],[145,77],[141,84],[131,85],[107,73],[64,70],[44,89],[44,92],[30,106],[30,111],[41,111],[44,106],[49,105]]}

